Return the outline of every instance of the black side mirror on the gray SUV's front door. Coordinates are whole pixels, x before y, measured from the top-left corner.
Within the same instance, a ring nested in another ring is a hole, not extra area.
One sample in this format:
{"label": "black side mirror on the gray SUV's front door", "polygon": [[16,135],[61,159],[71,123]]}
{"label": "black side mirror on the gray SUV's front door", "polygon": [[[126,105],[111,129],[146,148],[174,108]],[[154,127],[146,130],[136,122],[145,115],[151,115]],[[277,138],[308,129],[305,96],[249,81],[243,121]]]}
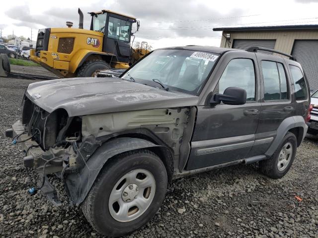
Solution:
{"label": "black side mirror on the gray SUV's front door", "polygon": [[219,104],[221,101],[228,105],[243,105],[246,103],[246,91],[242,88],[228,87],[223,94],[212,95],[210,104]]}

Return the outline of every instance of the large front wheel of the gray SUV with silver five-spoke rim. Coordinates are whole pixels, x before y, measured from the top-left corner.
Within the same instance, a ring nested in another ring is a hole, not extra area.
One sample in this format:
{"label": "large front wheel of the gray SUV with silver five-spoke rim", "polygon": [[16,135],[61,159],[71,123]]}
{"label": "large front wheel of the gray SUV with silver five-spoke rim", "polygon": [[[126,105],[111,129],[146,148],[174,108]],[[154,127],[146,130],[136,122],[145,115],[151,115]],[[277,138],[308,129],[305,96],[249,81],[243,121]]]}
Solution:
{"label": "large front wheel of the gray SUV with silver five-spoke rim", "polygon": [[[151,185],[143,188],[141,182]],[[123,236],[140,229],[155,216],[166,188],[167,172],[156,154],[146,149],[126,152],[113,158],[100,172],[82,204],[82,211],[97,232]],[[138,201],[142,206],[134,206]],[[128,216],[129,213],[132,215]]]}

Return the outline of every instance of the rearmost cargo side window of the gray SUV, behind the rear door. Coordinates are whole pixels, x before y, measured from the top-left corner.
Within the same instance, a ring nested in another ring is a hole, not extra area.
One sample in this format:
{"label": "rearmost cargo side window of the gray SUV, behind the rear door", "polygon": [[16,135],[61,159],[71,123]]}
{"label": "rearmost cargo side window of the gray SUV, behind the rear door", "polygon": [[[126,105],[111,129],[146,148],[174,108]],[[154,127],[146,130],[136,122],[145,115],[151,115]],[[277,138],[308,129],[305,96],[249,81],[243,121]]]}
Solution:
{"label": "rearmost cargo side window of the gray SUV, behind the rear door", "polygon": [[307,87],[302,70],[294,65],[289,65],[289,68],[292,73],[292,79],[294,82],[296,100],[307,99]]}

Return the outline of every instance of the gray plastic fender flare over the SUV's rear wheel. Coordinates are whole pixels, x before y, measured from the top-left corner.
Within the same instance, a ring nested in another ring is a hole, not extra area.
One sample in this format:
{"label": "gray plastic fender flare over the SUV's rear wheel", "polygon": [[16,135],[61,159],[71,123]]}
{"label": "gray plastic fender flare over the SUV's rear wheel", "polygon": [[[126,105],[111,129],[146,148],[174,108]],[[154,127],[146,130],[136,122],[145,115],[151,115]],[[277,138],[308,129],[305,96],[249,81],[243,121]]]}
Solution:
{"label": "gray plastic fender flare over the SUV's rear wheel", "polygon": [[306,124],[304,118],[302,116],[293,116],[293,117],[286,118],[278,126],[276,137],[273,140],[270,147],[265,152],[265,155],[267,156],[273,155],[277,147],[281,143],[282,139],[286,135],[287,131],[295,127],[303,127],[303,134],[299,135],[302,138],[300,142],[302,142],[305,138],[305,135],[308,129],[308,125]]}

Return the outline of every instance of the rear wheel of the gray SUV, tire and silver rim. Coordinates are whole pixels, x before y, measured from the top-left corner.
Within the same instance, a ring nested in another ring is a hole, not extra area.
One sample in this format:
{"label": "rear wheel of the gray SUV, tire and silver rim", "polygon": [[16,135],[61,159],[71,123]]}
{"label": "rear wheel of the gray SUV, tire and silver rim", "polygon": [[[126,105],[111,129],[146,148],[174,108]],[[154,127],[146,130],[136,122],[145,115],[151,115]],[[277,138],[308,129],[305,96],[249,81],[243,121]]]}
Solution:
{"label": "rear wheel of the gray SUV, tire and silver rim", "polygon": [[296,149],[296,136],[291,132],[287,132],[271,158],[259,162],[261,172],[272,179],[282,178],[287,174],[294,162]]}

